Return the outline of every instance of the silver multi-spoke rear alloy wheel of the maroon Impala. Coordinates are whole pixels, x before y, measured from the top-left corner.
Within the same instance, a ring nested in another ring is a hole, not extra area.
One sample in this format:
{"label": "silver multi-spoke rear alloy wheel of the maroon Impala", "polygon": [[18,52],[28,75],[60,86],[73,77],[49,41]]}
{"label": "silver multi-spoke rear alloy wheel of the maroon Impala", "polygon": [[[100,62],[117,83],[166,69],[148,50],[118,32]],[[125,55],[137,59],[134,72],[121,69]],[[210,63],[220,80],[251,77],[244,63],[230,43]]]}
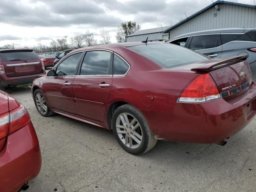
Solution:
{"label": "silver multi-spoke rear alloy wheel of the maroon Impala", "polygon": [[142,129],[138,120],[129,113],[121,113],[116,119],[116,131],[122,143],[131,149],[142,144]]}

